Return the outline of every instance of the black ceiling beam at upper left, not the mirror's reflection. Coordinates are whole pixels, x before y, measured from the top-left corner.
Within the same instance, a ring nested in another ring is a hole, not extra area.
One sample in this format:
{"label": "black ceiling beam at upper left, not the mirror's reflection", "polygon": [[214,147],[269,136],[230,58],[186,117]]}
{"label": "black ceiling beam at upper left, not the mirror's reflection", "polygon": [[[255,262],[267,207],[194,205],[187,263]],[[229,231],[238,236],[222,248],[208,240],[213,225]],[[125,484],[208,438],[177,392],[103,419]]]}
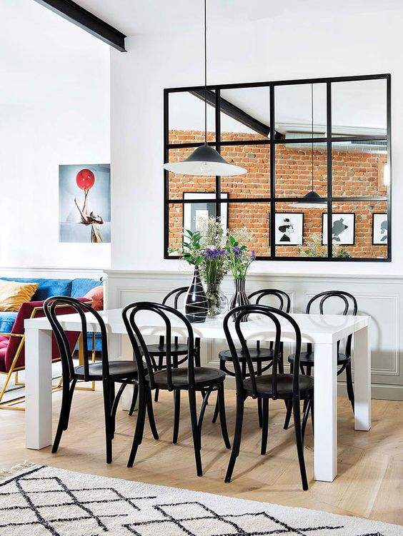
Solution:
{"label": "black ceiling beam at upper left, not the mirror's reflection", "polygon": [[54,11],[64,19],[76,24],[89,34],[101,39],[104,43],[113,46],[114,49],[125,52],[124,39],[126,36],[121,31],[116,30],[110,24],[107,24],[99,17],[90,13],[83,7],[72,0],[35,0],[41,6]]}

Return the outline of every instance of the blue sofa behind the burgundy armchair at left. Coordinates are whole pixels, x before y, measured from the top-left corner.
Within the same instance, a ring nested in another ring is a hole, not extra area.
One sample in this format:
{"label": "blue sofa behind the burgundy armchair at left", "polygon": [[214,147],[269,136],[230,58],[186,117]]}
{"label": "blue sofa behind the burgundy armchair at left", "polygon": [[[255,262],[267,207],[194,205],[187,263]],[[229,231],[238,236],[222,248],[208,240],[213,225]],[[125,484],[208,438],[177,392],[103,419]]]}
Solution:
{"label": "blue sofa behind the burgundy armchair at left", "polygon": [[[91,288],[102,285],[99,279],[38,279],[38,278],[0,278],[5,281],[18,281],[19,283],[39,283],[32,301],[43,301],[51,296],[71,296],[71,298],[84,298]],[[0,311],[0,333],[11,333],[17,313],[14,311]],[[101,350],[101,340],[96,334],[95,349]],[[89,350],[92,350],[92,337],[89,337]]]}

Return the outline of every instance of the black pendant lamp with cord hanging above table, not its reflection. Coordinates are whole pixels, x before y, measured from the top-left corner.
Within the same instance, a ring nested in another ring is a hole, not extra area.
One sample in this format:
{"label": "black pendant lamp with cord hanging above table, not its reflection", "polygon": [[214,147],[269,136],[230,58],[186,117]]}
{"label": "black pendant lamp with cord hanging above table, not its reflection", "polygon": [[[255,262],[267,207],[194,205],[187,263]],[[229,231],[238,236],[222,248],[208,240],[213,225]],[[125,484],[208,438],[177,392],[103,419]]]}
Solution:
{"label": "black pendant lamp with cord hanging above table, not its reflection", "polygon": [[164,163],[164,169],[182,175],[229,176],[244,175],[247,169],[227,162],[217,151],[207,145],[207,9],[204,0],[204,145],[181,162]]}

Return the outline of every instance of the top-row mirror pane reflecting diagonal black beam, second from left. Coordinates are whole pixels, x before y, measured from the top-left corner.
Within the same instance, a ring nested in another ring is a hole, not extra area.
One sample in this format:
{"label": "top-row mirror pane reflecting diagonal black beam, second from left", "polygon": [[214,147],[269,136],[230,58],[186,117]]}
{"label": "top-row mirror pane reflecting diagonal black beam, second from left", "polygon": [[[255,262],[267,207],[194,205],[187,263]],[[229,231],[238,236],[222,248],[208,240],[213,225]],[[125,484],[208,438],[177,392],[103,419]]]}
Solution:
{"label": "top-row mirror pane reflecting diagonal black beam, second from left", "polygon": [[221,141],[262,140],[270,132],[268,87],[222,89]]}

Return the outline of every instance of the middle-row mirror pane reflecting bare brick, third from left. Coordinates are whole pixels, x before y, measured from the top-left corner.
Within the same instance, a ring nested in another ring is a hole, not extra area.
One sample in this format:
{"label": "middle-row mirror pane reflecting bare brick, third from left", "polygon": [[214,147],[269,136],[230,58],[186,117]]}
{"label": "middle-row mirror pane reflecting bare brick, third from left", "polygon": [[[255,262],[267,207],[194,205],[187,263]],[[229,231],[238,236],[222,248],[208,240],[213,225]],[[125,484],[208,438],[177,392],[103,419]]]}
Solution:
{"label": "middle-row mirror pane reflecting bare brick, third from left", "polygon": [[[276,197],[303,197],[312,190],[312,143],[277,143]],[[327,197],[327,144],[314,143],[314,191]]]}

